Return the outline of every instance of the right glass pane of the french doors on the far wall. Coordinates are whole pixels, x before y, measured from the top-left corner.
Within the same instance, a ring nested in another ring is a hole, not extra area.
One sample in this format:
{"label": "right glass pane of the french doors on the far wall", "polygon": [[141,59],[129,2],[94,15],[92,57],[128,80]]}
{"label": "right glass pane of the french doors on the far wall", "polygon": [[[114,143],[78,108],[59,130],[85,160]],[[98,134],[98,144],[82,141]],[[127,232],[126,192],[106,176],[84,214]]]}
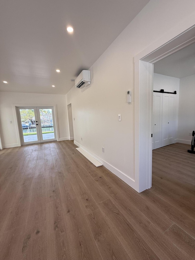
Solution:
{"label": "right glass pane of the french doors on the far wall", "polygon": [[55,139],[52,109],[39,109],[43,140]]}

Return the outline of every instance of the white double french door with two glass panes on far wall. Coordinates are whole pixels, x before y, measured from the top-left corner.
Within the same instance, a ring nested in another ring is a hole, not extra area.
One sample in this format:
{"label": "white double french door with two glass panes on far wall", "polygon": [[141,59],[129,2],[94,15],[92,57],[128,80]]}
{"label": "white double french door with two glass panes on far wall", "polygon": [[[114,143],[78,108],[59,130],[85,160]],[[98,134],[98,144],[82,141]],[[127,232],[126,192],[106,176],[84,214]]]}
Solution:
{"label": "white double french door with two glass panes on far wall", "polygon": [[56,140],[53,107],[18,107],[17,109],[22,145]]}

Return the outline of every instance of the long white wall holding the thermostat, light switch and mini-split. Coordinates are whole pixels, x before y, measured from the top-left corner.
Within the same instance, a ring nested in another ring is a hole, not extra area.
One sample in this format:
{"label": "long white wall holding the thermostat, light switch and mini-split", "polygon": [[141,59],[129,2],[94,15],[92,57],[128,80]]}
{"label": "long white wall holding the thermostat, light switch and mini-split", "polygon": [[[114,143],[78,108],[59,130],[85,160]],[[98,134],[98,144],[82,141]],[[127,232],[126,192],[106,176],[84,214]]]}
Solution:
{"label": "long white wall holding the thermostat, light switch and mini-split", "polygon": [[[195,1],[151,0],[90,68],[92,84],[83,90],[73,87],[66,95],[67,104],[72,103],[77,144],[131,186],[136,120],[133,58],[177,24],[182,26],[170,33],[169,40],[193,26],[194,15]],[[126,103],[128,90],[132,91],[131,104]]]}

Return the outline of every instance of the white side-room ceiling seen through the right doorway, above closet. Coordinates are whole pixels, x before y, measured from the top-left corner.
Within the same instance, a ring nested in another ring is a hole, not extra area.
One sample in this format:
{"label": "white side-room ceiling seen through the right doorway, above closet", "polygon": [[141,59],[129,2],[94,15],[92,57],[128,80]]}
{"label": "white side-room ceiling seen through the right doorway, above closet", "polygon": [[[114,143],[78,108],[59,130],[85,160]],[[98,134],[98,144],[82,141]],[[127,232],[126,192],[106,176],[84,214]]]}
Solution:
{"label": "white side-room ceiling seen through the right doorway, above closet", "polygon": [[195,43],[154,63],[154,73],[175,78],[195,74]]}

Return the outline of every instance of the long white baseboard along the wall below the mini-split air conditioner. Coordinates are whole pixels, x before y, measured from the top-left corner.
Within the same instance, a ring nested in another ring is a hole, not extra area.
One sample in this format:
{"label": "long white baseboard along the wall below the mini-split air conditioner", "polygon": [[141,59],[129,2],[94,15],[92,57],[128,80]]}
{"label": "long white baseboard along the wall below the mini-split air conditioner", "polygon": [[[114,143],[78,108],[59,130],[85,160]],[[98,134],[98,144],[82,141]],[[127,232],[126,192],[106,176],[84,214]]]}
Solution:
{"label": "long white baseboard along the wall below the mini-split air conditioner", "polygon": [[[84,151],[86,151],[88,154],[90,154],[91,156],[93,156],[96,160],[98,160],[99,162],[101,162],[103,164],[103,166],[105,168],[107,168],[109,171],[111,171],[112,173],[114,173],[116,176],[118,176],[121,180],[123,180],[124,182],[126,182],[129,186],[131,186],[133,189],[136,190],[135,187],[135,180],[131,179],[129,176],[127,176],[125,173],[122,173],[119,169],[116,169],[114,166],[112,166],[111,164],[109,164],[108,162],[104,161],[102,158],[98,157],[97,155],[95,155],[94,153],[92,153],[91,151],[89,151],[87,148],[85,148],[84,146],[82,146],[81,144],[77,143],[76,141],[74,141],[74,144],[76,144],[78,147],[82,148]],[[100,166],[101,167],[101,166]],[[139,191],[138,191],[139,192]]]}

